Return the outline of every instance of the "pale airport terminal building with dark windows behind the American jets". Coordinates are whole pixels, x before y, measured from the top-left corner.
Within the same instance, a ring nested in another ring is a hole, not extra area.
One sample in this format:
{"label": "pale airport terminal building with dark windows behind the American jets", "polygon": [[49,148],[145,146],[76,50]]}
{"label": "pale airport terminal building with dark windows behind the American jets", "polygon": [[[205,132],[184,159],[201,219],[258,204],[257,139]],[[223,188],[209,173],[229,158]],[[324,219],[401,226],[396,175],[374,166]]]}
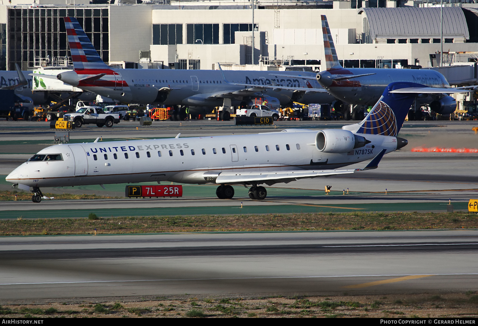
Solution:
{"label": "pale airport terminal building with dark windows behind the American jets", "polygon": [[[345,67],[431,67],[440,60],[441,15],[434,2],[256,0],[252,10],[246,0],[128,1],[11,0],[0,6],[0,69],[66,64],[65,16],[78,19],[105,62],[123,67],[320,67],[320,15],[327,17]],[[443,50],[470,53],[448,54],[445,63],[477,61],[471,52],[478,51],[478,4],[464,2],[445,3]]]}

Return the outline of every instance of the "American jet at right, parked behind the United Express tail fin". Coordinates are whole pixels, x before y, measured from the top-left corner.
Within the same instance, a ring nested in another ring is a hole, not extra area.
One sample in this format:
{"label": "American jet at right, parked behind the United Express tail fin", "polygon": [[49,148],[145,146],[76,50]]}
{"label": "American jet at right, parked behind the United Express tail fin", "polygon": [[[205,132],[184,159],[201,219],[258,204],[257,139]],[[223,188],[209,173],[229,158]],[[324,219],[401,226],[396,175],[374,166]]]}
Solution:
{"label": "American jet at right, parked behind the United Express tail fin", "polygon": [[[438,71],[428,69],[379,69],[379,68],[344,68],[337,58],[334,40],[330,34],[327,18],[321,15],[324,36],[326,70],[317,73],[316,79],[330,94],[337,99],[358,105],[373,105],[377,102],[388,84],[395,81],[408,81],[425,86],[407,90],[416,95],[421,94],[420,103],[430,104],[430,108],[439,114],[450,114],[456,110],[456,101],[447,95],[467,92],[463,89],[450,88]],[[308,79],[309,76],[304,76]]]}

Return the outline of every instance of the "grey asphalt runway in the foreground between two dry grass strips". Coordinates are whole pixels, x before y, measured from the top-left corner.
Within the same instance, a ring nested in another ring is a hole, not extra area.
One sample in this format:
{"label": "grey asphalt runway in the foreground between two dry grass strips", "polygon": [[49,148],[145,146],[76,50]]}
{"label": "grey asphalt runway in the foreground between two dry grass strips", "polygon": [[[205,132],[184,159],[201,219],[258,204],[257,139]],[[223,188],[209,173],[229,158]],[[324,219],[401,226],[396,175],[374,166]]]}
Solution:
{"label": "grey asphalt runway in the foreground between two dry grass strips", "polygon": [[478,289],[468,230],[2,237],[0,253],[1,304]]}

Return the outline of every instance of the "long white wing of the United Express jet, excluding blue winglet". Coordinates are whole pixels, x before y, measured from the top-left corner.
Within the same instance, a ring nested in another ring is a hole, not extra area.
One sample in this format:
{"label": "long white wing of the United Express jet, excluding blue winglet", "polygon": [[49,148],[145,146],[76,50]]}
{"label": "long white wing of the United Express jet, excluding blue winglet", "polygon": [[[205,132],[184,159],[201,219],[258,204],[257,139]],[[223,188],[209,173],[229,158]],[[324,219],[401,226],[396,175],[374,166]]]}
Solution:
{"label": "long white wing of the United Express jet, excluding blue winglet", "polygon": [[258,182],[272,185],[274,183],[288,183],[298,179],[332,176],[337,174],[354,173],[355,170],[293,170],[293,171],[249,171],[249,172],[222,172],[217,176],[216,183],[247,183]]}

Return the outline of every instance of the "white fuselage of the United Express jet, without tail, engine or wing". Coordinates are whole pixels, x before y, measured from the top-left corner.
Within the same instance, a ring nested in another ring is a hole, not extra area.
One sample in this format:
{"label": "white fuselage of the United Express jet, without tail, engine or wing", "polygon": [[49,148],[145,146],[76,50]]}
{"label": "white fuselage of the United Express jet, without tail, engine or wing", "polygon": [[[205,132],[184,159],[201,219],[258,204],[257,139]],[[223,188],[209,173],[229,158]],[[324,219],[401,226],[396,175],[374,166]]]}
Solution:
{"label": "white fuselage of the United Express jet, without tail, engine or wing", "polygon": [[362,136],[371,142],[366,146],[348,153],[324,153],[316,148],[316,135],[317,131],[287,130],[60,144],[37,154],[61,154],[60,160],[25,162],[6,180],[30,187],[147,181],[206,183],[204,173],[211,171],[327,170],[369,160],[382,149],[390,153],[397,148],[396,137],[364,134]]}

